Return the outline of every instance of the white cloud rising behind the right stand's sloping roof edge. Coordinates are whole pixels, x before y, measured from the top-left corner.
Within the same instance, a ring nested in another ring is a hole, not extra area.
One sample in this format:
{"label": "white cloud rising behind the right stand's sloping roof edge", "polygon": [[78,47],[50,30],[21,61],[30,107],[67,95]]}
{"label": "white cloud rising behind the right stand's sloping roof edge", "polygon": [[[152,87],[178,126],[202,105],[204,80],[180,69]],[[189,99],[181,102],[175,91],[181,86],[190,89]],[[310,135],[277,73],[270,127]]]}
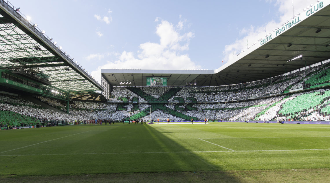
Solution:
{"label": "white cloud rising behind the right stand's sloping roof edge", "polygon": [[[271,0],[268,0],[268,2],[272,3]],[[316,2],[316,1],[315,1]],[[295,0],[293,2],[294,4],[294,13],[300,13],[302,14],[303,9],[306,8],[306,6],[311,4],[310,0]],[[244,36],[242,39],[236,39],[234,43],[230,45],[226,45],[225,49],[223,51],[224,54],[224,61],[230,61],[233,60],[236,57],[236,54],[241,53],[243,50],[246,50],[247,48],[247,40],[248,45],[258,42],[258,39],[265,36],[265,26],[267,27],[267,33],[273,33],[272,30],[275,27],[278,27],[281,25],[282,22],[286,20],[290,20],[292,17],[292,1],[288,0],[277,0],[275,2],[276,5],[278,5],[279,9],[278,11],[278,20],[269,20],[264,25],[259,26],[249,26],[244,27],[242,30],[239,31],[240,36]],[[251,21],[253,23],[253,21]],[[234,54],[233,54],[234,53]]]}

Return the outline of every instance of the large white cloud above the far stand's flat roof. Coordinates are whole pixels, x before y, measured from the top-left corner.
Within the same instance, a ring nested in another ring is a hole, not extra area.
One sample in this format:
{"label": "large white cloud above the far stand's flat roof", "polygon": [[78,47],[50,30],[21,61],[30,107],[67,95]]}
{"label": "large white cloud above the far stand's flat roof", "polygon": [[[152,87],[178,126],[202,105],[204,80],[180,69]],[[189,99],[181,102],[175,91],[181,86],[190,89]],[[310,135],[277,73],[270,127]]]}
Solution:
{"label": "large white cloud above the far stand's flat roof", "polygon": [[180,30],[180,26],[173,26],[172,23],[162,20],[156,26],[159,43],[142,43],[136,53],[123,51],[119,55],[111,54],[116,56],[116,60],[107,61],[91,73],[100,81],[101,69],[200,69],[200,65],[193,62],[188,54],[183,53],[189,49],[189,40],[194,37],[194,33],[182,34]]}

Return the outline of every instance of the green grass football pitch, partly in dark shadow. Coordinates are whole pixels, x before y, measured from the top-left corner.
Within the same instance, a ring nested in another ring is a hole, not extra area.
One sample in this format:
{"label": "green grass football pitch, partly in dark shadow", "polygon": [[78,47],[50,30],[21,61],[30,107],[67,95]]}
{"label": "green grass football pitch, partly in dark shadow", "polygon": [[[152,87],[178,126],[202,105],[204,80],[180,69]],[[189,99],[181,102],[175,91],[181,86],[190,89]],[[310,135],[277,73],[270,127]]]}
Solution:
{"label": "green grass football pitch, partly in dark shadow", "polygon": [[2,130],[0,144],[2,177],[330,167],[330,125],[74,125]]}

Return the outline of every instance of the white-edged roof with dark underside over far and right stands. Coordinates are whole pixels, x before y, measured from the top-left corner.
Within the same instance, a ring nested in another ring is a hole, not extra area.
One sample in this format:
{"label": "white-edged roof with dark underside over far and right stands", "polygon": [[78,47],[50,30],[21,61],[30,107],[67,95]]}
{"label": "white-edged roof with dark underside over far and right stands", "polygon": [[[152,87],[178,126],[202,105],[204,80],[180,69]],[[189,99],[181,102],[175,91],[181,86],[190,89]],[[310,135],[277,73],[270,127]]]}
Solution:
{"label": "white-edged roof with dark underside over far and right stands", "polygon": [[318,2],[289,18],[236,55],[234,60],[215,70],[102,69],[101,73],[112,86],[146,86],[147,77],[166,77],[167,86],[245,83],[330,59],[329,38],[329,2]]}

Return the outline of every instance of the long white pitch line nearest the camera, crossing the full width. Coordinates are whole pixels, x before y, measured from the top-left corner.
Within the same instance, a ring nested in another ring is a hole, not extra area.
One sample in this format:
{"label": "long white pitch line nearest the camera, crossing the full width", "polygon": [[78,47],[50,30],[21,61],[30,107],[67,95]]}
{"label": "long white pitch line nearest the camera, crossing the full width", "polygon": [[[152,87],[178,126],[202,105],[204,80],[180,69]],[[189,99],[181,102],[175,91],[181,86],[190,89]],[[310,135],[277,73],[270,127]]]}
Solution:
{"label": "long white pitch line nearest the camera, crossing the full width", "polygon": [[64,153],[64,154],[25,154],[25,155],[0,155],[6,156],[56,156],[56,155],[109,155],[109,154],[165,154],[165,153],[226,153],[226,152],[268,152],[268,151],[319,151],[330,149],[291,149],[291,150],[243,150],[243,151],[169,151],[169,152],[131,152],[131,153]]}

